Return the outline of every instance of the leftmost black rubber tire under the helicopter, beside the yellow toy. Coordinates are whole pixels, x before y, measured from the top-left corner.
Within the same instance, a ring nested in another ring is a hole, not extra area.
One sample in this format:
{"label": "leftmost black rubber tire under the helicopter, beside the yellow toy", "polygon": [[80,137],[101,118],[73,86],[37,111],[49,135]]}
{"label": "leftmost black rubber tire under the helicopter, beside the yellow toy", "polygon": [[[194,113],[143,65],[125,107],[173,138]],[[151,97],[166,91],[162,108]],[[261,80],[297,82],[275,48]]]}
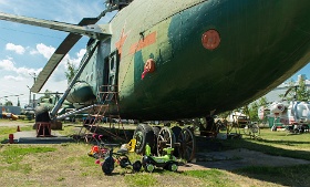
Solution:
{"label": "leftmost black rubber tire under the helicopter, beside the yellow toy", "polygon": [[154,146],[154,132],[152,126],[149,126],[148,124],[138,124],[134,133],[134,138],[138,132],[143,134],[143,138],[142,138],[141,146],[135,147],[135,152],[136,154],[145,154],[146,144],[148,144],[149,147]]}

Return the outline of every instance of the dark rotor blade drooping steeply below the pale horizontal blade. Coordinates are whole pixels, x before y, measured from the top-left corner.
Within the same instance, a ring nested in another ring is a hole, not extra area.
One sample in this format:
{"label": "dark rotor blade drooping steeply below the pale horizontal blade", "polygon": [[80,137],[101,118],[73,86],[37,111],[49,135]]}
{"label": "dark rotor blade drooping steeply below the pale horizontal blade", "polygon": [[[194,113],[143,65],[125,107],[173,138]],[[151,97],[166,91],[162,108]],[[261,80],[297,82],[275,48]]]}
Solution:
{"label": "dark rotor blade drooping steeply below the pale horizontal blade", "polygon": [[[83,18],[79,25],[85,24],[95,24],[99,21],[96,18]],[[48,61],[44,69],[40,72],[39,76],[35,80],[35,83],[31,87],[31,92],[38,93],[41,91],[52,72],[55,70],[58,64],[62,61],[64,55],[72,49],[72,46],[82,38],[82,35],[78,35],[74,33],[70,33],[63,42],[59,45],[56,51]]]}

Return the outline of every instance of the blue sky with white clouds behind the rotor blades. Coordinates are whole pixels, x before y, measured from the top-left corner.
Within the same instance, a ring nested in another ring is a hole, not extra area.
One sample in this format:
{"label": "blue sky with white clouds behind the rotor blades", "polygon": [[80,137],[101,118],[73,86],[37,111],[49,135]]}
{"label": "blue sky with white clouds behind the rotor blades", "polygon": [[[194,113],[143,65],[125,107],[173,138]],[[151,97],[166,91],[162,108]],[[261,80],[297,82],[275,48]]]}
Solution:
{"label": "blue sky with white clouds behind the rotor blades", "polygon": [[[104,10],[105,0],[0,0],[0,11],[45,20],[78,23],[84,17],[97,17]],[[108,22],[115,14],[108,13],[100,23]],[[7,95],[19,96],[21,106],[29,103],[29,87],[33,85],[33,75],[38,75],[49,58],[68,35],[65,32],[0,21],[0,103]],[[87,38],[70,51],[63,62],[54,71],[46,85],[41,90],[63,92],[66,87],[64,71],[70,60],[79,64],[85,52]],[[268,71],[268,70],[266,70]],[[310,64],[297,72],[310,79]],[[39,97],[37,95],[37,97]],[[8,97],[17,105],[17,96]]]}

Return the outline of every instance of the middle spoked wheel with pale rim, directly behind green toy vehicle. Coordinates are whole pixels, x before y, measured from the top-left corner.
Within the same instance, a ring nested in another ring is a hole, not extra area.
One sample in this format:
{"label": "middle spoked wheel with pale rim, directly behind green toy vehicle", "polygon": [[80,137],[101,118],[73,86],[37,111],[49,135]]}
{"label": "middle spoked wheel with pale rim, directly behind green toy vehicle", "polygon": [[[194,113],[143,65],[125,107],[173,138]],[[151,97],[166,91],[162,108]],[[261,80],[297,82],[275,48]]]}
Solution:
{"label": "middle spoked wheel with pale rim, directly behind green toy vehicle", "polygon": [[170,128],[163,127],[157,137],[157,153],[158,155],[164,155],[163,149],[170,147],[173,148],[175,144],[175,136]]}

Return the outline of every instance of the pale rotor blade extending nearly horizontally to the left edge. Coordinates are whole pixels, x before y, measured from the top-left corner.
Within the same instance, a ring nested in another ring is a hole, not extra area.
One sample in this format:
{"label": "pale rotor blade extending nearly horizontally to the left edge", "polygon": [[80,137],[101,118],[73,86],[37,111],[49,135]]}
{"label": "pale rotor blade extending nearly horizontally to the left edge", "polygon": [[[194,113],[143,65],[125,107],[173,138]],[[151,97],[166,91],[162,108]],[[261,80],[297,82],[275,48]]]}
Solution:
{"label": "pale rotor blade extending nearly horizontally to the left edge", "polygon": [[23,24],[30,24],[30,25],[37,25],[41,28],[49,28],[52,30],[59,30],[59,31],[65,31],[70,33],[81,34],[81,35],[87,35],[93,39],[103,40],[111,35],[108,32],[108,28],[106,27],[99,27],[95,24],[90,24],[86,27],[76,25],[76,24],[70,24],[64,22],[58,22],[58,21],[50,21],[50,20],[42,20],[42,19],[35,19],[35,18],[28,18],[28,17],[21,17],[10,13],[3,13],[0,12],[0,20],[7,20]]}

